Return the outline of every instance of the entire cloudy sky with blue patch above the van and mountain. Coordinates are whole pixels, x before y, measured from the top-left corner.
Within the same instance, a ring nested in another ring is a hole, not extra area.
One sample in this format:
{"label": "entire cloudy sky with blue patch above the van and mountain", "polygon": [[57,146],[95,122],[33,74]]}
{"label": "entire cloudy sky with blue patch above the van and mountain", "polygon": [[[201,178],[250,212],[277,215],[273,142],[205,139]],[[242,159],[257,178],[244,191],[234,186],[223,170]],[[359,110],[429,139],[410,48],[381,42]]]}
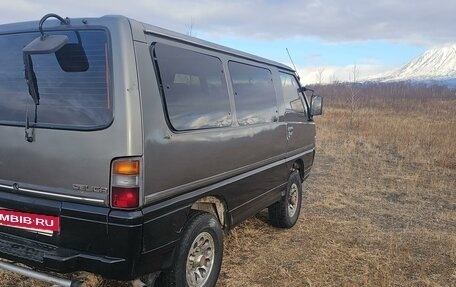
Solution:
{"label": "entire cloudy sky with blue patch above the van and mountain", "polygon": [[353,65],[372,77],[454,43],[454,11],[454,0],[0,0],[0,24],[122,14],[286,64],[288,48],[310,84],[349,80]]}

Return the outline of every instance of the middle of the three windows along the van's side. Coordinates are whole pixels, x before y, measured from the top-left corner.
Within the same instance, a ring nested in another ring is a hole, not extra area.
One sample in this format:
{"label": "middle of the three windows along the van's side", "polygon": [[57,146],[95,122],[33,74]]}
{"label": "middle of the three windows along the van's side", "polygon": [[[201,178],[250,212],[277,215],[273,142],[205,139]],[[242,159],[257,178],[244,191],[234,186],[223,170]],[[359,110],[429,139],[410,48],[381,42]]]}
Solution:
{"label": "middle of the three windows along the van's side", "polygon": [[271,71],[237,62],[228,66],[239,125],[273,122],[277,100]]}

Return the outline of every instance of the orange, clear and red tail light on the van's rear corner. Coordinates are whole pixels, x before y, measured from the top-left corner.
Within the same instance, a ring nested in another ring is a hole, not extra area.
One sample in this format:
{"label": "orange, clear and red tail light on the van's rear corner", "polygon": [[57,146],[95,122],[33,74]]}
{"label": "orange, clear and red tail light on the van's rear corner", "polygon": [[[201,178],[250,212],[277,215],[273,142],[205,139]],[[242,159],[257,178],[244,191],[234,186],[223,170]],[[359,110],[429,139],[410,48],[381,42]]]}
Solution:
{"label": "orange, clear and red tail light on the van's rear corner", "polygon": [[141,203],[141,160],[118,159],[111,167],[111,206],[134,209]]}

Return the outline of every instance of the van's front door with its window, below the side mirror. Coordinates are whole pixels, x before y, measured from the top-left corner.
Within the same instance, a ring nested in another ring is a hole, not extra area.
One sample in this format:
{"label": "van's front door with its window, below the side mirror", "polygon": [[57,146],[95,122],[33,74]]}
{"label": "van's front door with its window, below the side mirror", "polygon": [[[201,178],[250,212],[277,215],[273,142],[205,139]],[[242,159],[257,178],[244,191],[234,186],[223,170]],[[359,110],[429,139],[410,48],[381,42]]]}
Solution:
{"label": "van's front door with its window, below the side mirror", "polygon": [[312,164],[310,161],[315,147],[315,125],[308,117],[308,105],[298,91],[296,77],[281,72],[280,80],[285,102],[284,121],[287,122],[287,157],[303,158],[304,170],[307,170]]}

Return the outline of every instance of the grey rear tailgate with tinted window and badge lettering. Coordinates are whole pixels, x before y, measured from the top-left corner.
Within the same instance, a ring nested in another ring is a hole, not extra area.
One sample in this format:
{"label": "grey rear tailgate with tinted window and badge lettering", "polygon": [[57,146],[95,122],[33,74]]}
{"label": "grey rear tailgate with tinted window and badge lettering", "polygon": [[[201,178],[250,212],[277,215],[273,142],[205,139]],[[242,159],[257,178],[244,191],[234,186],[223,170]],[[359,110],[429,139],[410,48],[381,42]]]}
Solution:
{"label": "grey rear tailgate with tinted window and badge lettering", "polygon": [[106,149],[113,121],[108,34],[49,34],[69,41],[55,54],[31,57],[40,97],[35,112],[22,49],[40,34],[0,32],[0,190],[106,205],[113,158]]}

